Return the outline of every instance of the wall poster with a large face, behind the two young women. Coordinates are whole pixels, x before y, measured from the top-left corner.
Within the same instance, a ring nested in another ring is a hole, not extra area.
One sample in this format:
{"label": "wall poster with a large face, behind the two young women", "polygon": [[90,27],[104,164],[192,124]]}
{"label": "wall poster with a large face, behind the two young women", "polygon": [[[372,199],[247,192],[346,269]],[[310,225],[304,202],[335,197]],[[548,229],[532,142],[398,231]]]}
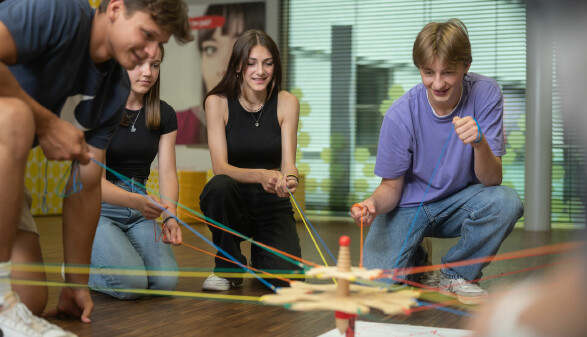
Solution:
{"label": "wall poster with a large face, behind the two young women", "polygon": [[[191,53],[194,56],[192,61],[183,62],[181,74],[178,75],[184,83],[187,81],[191,84],[188,85],[189,90],[194,92],[186,92],[185,87],[175,88],[182,92],[182,97],[176,106],[174,102],[169,102],[177,113],[177,144],[207,143],[203,99],[224,76],[232,46],[240,34],[249,29],[267,31],[266,7],[266,1],[214,1],[210,4],[189,6],[190,25],[196,40],[189,45],[169,50],[169,58],[174,57],[172,53]],[[177,81],[172,81],[173,83],[167,81],[163,86],[178,85]]]}

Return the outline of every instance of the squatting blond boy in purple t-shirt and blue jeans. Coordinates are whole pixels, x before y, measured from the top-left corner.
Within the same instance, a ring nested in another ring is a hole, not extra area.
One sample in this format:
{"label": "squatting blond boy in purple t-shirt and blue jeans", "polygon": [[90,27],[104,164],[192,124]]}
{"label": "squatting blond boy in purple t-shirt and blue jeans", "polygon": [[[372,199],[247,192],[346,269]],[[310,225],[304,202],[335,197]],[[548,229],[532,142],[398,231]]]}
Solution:
{"label": "squatting blond boy in purple t-shirt and blue jeans", "polygon": [[[503,96],[495,80],[467,73],[465,25],[427,24],[413,60],[422,83],[394,102],[381,126],[375,164],[381,184],[351,210],[357,223],[372,223],[368,268],[413,267],[425,237],[461,237],[443,264],[493,255],[523,214],[517,193],[500,186]],[[463,303],[484,301],[488,294],[475,280],[487,264],[445,266],[439,287]]]}

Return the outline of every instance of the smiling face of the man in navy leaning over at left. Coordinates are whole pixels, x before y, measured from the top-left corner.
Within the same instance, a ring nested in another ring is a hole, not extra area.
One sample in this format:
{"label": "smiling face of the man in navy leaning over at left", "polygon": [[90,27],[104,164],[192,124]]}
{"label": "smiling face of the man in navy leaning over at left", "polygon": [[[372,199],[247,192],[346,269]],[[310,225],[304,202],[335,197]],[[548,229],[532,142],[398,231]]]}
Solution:
{"label": "smiling face of the man in navy leaning over at left", "polygon": [[131,70],[147,58],[155,58],[159,43],[166,43],[170,34],[162,30],[143,11],[127,15],[122,1],[111,1],[108,17],[112,21],[109,46],[114,58],[124,68]]}

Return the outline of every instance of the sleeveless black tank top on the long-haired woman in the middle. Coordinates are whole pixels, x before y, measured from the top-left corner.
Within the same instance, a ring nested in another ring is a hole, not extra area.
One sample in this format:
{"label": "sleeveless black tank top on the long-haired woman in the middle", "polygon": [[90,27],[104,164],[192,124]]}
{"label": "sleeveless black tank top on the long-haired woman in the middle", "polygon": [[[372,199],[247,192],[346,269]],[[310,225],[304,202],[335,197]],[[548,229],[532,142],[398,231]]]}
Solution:
{"label": "sleeveless black tank top on the long-haired woman in the middle", "polygon": [[[228,98],[226,149],[228,163],[240,168],[281,167],[281,127],[275,91],[259,112],[245,110],[238,98]],[[255,123],[259,126],[255,126]]]}

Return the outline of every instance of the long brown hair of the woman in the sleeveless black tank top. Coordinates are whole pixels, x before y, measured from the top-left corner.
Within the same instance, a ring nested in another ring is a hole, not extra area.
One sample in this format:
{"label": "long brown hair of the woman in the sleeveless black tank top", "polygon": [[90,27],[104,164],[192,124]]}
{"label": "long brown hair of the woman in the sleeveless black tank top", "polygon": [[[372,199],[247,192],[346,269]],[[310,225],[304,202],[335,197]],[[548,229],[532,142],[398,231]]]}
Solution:
{"label": "long brown hair of the woman in the sleeveless black tank top", "polygon": [[237,98],[240,95],[240,89],[243,82],[242,76],[238,76],[237,71],[243,71],[247,67],[249,55],[253,47],[260,45],[271,53],[273,57],[273,77],[271,83],[267,85],[267,100],[273,93],[273,90],[281,90],[281,59],[279,57],[279,49],[275,41],[264,31],[261,30],[248,30],[244,32],[234,43],[232,48],[232,54],[228,61],[228,68],[224,77],[220,80],[220,83],[210,90],[210,92],[204,98],[204,106],[206,106],[206,100],[210,95],[217,95],[227,98]]}

